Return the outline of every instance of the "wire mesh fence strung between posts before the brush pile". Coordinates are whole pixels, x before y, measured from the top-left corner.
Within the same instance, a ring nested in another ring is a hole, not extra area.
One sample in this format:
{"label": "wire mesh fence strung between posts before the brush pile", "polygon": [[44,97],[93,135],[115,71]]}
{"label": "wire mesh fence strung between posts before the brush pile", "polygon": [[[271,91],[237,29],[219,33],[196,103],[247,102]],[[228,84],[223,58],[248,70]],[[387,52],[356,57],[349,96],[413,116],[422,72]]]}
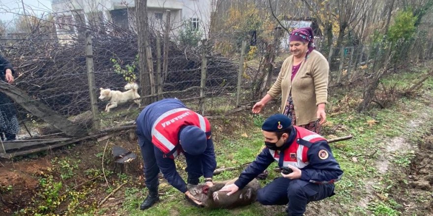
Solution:
{"label": "wire mesh fence strung between posts before the brush pile", "polygon": [[[31,101],[40,102],[88,132],[92,130],[94,117],[91,113],[89,59],[93,62],[93,90],[99,98],[97,110],[101,118],[98,121],[104,129],[133,121],[143,107],[161,98],[179,98],[196,111],[203,111],[200,107],[204,106],[204,115],[224,115],[239,106],[251,105],[263,96],[266,92],[263,90],[269,88],[264,84],[268,68],[272,80],[269,83],[272,84],[282,61],[289,55],[287,47],[282,45],[285,43],[281,43],[287,40],[286,34],[274,43],[263,39],[273,35],[274,30],[212,33],[205,41],[201,40],[202,35],[190,41],[172,33],[167,41],[164,33],[151,30],[150,62],[156,81],[148,87],[155,91],[135,91],[127,83],[136,82],[137,86],[143,86],[138,79],[138,61],[144,60],[138,59],[135,30],[115,25],[76,29],[81,30],[67,35],[40,31],[2,35],[0,49],[16,68],[15,87],[29,95]],[[101,29],[110,30],[101,32]],[[84,32],[92,36],[91,56],[85,53],[87,44]],[[427,47],[432,46],[432,41],[427,42],[428,46],[421,46],[421,39],[415,39],[415,44],[422,49],[412,48],[419,53],[410,55],[413,59],[431,57]],[[246,43],[243,58],[242,41]],[[276,49],[270,49],[270,46]],[[322,51],[320,48],[319,52]],[[384,61],[382,56],[386,52],[378,52],[380,49],[347,46],[335,49],[332,56],[329,56],[329,51],[323,53],[330,63],[330,85],[368,81],[374,70],[380,67],[373,65]],[[272,59],[269,58],[269,52],[275,52]],[[128,89],[124,89],[125,86]],[[101,100],[101,89],[129,96],[119,96],[119,107],[107,112],[110,99]],[[142,103],[133,104],[138,94]],[[143,100],[145,98],[151,100]],[[122,102],[125,102],[124,106],[120,105]],[[18,111],[23,138],[60,132],[28,109],[12,103]]]}

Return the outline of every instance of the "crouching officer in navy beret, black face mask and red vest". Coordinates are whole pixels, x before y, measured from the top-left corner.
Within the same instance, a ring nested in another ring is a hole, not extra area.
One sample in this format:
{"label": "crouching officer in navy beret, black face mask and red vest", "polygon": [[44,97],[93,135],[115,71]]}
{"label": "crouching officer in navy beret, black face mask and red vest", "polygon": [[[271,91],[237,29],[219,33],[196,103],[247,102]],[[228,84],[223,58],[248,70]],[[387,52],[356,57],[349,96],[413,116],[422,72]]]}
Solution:
{"label": "crouching officer in navy beret, black face mask and red vest", "polygon": [[285,205],[289,216],[302,216],[307,203],[334,195],[334,182],[343,171],[335,160],[328,142],[305,128],[292,126],[291,119],[275,114],[262,126],[266,148],[248,165],[239,179],[222,188],[230,195],[243,189],[272,162],[288,167],[290,174],[281,173],[257,191],[257,201],[263,205]]}

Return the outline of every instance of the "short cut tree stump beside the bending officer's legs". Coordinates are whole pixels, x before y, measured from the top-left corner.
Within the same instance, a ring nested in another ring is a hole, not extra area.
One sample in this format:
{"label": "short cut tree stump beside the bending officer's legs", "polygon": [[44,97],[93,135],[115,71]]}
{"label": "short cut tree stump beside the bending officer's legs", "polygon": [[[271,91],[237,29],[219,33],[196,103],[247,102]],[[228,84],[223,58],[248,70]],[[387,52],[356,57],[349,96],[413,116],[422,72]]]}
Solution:
{"label": "short cut tree stump beside the bending officer's legs", "polygon": [[138,167],[137,155],[120,146],[113,146],[114,172],[135,175]]}

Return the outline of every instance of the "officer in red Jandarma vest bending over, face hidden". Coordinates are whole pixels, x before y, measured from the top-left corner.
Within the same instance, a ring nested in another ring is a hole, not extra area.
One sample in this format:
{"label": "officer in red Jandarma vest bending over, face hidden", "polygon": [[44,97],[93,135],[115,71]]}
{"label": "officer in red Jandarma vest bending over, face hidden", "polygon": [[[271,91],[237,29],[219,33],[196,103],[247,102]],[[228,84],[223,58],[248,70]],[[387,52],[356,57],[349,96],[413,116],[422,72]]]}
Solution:
{"label": "officer in red Jandarma vest bending over, face hidden", "polygon": [[199,177],[204,176],[206,184],[213,186],[216,158],[208,119],[187,109],[178,99],[163,99],[143,109],[136,124],[145,183],[149,189],[140,209],[148,209],[159,201],[159,171],[170,185],[185,193],[188,201],[201,205],[186,189],[174,159],[179,154],[185,155],[188,184],[197,185]]}

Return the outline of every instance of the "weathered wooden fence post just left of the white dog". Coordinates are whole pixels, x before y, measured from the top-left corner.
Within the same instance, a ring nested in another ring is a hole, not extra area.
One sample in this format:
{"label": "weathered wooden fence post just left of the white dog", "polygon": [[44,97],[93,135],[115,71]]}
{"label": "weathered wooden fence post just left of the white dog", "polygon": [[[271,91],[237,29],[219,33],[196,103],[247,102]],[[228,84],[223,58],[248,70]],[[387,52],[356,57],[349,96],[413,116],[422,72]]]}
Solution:
{"label": "weathered wooden fence post just left of the white dog", "polygon": [[86,32],[86,65],[87,65],[87,79],[89,84],[90,106],[92,108],[93,116],[93,130],[100,129],[98,102],[96,100],[96,86],[94,80],[94,66],[93,66],[93,50],[92,50],[92,35]]}

